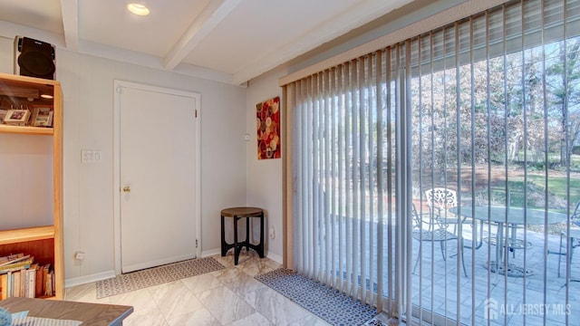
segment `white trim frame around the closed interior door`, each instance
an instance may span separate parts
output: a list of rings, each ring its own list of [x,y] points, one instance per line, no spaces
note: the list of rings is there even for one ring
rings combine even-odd
[[[141,91],[157,91],[194,98],[196,102],[195,139],[195,219],[196,257],[201,256],[201,94],[193,91],[179,91],[138,82],[113,80],[113,233],[115,250],[115,274],[121,274],[121,90],[123,88]]]

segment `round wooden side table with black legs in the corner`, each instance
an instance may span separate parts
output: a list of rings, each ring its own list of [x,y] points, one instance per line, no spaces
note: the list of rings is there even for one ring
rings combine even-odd
[[[225,232],[225,217],[232,217],[234,219],[234,243],[227,244],[226,242],[226,232]],[[238,242],[237,240],[237,221],[240,218],[247,218],[246,221],[246,240],[243,242]],[[252,245],[250,243],[250,217],[260,218],[260,243],[257,245]],[[234,264],[237,265],[239,259],[239,253],[242,248],[246,247],[246,250],[250,248],[260,256],[264,258],[264,211],[257,207],[229,207],[221,210],[221,255],[225,256],[229,249],[234,248]]]

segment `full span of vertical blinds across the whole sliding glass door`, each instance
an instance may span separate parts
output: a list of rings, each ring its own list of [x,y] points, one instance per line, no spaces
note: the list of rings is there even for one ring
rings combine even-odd
[[[295,270],[401,319],[572,323],[579,18],[507,2],[285,85]]]

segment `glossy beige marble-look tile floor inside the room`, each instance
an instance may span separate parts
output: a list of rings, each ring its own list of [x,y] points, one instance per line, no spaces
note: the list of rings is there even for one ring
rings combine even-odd
[[[173,283],[96,299],[94,283],[66,289],[66,300],[132,305],[124,321],[132,326],[183,325],[327,325],[283,295],[254,279],[280,264],[250,252],[240,256],[214,256],[226,269]]]

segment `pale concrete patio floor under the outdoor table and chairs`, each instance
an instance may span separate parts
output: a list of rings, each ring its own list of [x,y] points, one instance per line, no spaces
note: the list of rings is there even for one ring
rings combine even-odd
[[[483,229],[484,239],[496,235],[495,225],[484,224]],[[463,226],[465,245],[470,245],[471,231],[470,225]],[[526,264],[525,277],[489,271],[488,261],[496,259],[496,245],[483,241],[478,249],[464,248],[468,276],[459,267],[459,286],[457,242],[449,245],[447,260],[443,260],[439,243],[432,244],[431,252],[431,243],[423,242],[423,258],[412,277],[413,304],[457,320],[459,297],[460,322],[469,325],[566,325],[566,316],[568,325],[580,325],[580,283],[569,283],[566,292],[565,256],[562,277],[558,277],[558,254],[545,254],[546,247],[549,253],[558,252],[559,235],[549,234],[545,241],[543,233],[517,229],[518,239],[524,235],[531,245],[507,252],[507,257],[509,264]],[[419,247],[419,242],[413,241],[413,264]],[[580,278],[579,267],[580,259],[573,260],[572,278]]]

